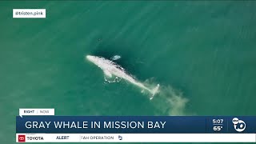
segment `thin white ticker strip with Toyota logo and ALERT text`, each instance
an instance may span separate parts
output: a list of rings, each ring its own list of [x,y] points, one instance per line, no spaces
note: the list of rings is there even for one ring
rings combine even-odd
[[[256,142],[256,134],[16,134],[16,142]]]

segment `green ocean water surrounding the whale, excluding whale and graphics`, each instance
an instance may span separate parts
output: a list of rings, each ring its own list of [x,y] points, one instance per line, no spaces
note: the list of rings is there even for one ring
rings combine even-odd
[[[256,2],[0,2],[1,143],[18,108],[57,115],[256,115]],[[46,18],[12,18],[44,8]],[[159,92],[106,83],[112,58]]]

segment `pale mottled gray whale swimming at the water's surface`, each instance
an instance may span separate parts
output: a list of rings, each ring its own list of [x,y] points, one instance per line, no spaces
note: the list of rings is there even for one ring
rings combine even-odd
[[[110,61],[109,59],[93,56],[93,55],[86,55],[86,59],[90,62],[93,62],[96,66],[101,68],[107,77],[111,78],[112,75],[114,75],[116,76],[116,78],[123,78],[126,81],[134,84],[135,86],[138,86],[143,90],[149,91],[150,94],[152,94],[150,99],[152,99],[154,97],[154,94],[158,92],[158,88],[160,86],[159,84],[154,89],[151,90],[150,88],[144,86],[142,82],[138,82],[135,78],[133,78],[130,74],[128,74],[126,70],[122,68],[122,66],[119,66],[118,64]]]

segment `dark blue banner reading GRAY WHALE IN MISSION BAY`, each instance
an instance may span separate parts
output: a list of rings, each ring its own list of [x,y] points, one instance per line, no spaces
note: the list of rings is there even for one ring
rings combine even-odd
[[[256,133],[256,116],[17,116],[16,133]]]

